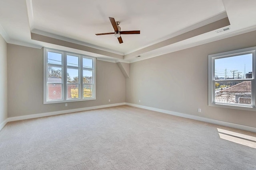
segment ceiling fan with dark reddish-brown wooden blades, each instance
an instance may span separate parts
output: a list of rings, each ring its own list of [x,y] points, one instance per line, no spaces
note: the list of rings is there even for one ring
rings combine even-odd
[[[115,21],[114,18],[108,17],[113,28],[114,28],[114,33],[99,33],[99,34],[95,34],[95,35],[107,35],[107,34],[114,34],[115,37],[117,37],[119,43],[123,43],[121,34],[140,34],[140,31],[121,31],[121,27],[118,26],[120,24],[119,21]]]

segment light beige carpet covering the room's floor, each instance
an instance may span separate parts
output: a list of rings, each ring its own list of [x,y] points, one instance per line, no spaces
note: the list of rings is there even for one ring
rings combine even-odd
[[[0,169],[256,169],[256,149],[212,125],[130,106],[9,122]]]

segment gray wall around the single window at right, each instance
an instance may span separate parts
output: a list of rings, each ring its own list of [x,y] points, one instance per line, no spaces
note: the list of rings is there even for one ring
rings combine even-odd
[[[255,37],[253,31],[131,63],[126,102],[256,127],[254,111],[208,106],[208,55],[254,47]]]

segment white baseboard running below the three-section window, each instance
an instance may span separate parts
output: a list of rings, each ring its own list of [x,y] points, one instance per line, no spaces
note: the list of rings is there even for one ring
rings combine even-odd
[[[113,107],[113,106],[121,106],[125,105],[125,103],[117,103],[117,104],[107,104],[107,105],[101,105],[101,106],[92,106],[92,107],[84,107],[84,108],[78,108],[78,109],[70,109],[70,110],[61,110],[61,111],[53,111],[48,113],[38,113],[33,115],[24,115],[24,116],[17,116],[17,117],[8,117],[7,122],[9,121],[18,121],[18,120],[24,120],[24,119],[32,119],[37,117],[45,117],[45,116],[52,116],[52,115],[60,115],[65,113],[73,113],[77,111],[85,111],[85,110],[92,110],[92,109],[100,109],[105,107]],[[7,123],[6,122],[6,123]],[[1,124],[2,125],[2,124]]]

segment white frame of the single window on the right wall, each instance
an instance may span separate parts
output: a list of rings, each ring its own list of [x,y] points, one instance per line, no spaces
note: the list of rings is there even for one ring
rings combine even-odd
[[[215,79],[214,79],[214,70],[215,59],[221,59],[225,57],[234,57],[237,55],[245,55],[245,54],[252,54],[252,78],[250,79],[224,79],[218,80],[219,81],[251,81],[252,83],[252,94],[251,94],[251,102],[252,105],[245,105],[245,104],[226,104],[226,103],[218,103],[215,102]],[[255,79],[255,68],[256,68],[256,47],[250,47],[246,49],[239,49],[234,51],[228,51],[224,53],[218,53],[213,55],[208,55],[208,106],[215,106],[215,107],[226,107],[232,109],[241,109],[241,110],[250,110],[256,111],[256,79]],[[217,81],[217,80],[216,80]]]

